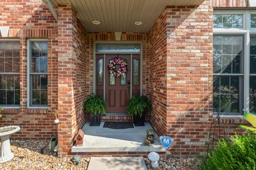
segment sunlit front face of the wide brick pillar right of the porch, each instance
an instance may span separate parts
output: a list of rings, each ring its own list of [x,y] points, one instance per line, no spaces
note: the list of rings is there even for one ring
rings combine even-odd
[[[167,135],[172,155],[204,154],[212,118],[213,8],[167,8]]]

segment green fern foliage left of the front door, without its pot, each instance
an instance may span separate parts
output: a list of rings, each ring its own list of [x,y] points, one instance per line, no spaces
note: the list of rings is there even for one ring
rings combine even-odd
[[[107,112],[106,102],[103,97],[98,95],[89,96],[84,103],[86,113],[105,114]]]

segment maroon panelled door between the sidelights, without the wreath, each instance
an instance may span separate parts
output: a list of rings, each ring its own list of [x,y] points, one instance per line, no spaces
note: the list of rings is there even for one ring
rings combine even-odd
[[[113,77],[110,75],[108,64],[113,58],[119,57],[126,60],[127,72],[125,77]],[[106,89],[105,99],[107,104],[108,113],[126,113],[126,104],[130,97],[130,86],[131,81],[131,55],[106,55],[105,63],[105,75],[106,75]],[[116,69],[119,69],[119,65],[116,65]]]

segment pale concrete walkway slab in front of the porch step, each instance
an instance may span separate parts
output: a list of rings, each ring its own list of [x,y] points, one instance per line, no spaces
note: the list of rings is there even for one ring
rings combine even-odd
[[[142,157],[92,157],[87,170],[147,170]]]

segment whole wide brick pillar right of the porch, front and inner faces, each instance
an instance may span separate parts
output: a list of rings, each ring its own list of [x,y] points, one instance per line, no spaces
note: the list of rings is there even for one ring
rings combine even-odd
[[[150,120],[174,139],[172,156],[205,148],[212,121],[212,12],[209,1],[168,6],[150,31]]]

